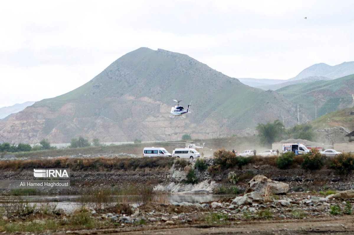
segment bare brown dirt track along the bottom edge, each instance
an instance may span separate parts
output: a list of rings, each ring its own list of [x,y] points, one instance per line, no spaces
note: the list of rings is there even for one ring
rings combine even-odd
[[[329,217],[319,219],[297,219],[284,221],[235,222],[229,225],[171,225],[144,226],[120,229],[97,229],[92,231],[75,231],[72,234],[354,234],[352,216]],[[67,234],[70,234],[67,232]]]

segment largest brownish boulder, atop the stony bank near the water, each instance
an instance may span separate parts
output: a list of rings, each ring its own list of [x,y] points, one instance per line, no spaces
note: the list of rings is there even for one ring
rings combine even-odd
[[[259,192],[261,195],[264,194],[286,194],[289,191],[289,185],[287,183],[274,181],[268,179],[264,175],[256,175],[250,182],[248,182],[249,187],[247,192]]]

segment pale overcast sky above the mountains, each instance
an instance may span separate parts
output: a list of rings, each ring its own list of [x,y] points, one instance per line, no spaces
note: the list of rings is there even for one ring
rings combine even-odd
[[[307,19],[304,19],[307,17]],[[139,47],[230,77],[354,60],[354,1],[4,1],[0,107],[55,97]]]

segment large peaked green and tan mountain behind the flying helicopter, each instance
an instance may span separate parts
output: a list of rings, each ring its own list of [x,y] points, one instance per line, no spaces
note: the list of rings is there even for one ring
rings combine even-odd
[[[173,99],[184,106],[193,101],[185,119],[169,117]],[[139,48],[79,88],[0,121],[0,137],[14,143],[68,143],[78,135],[102,141],[177,140],[185,133],[212,138],[253,134],[258,122],[283,116],[287,125],[295,122],[295,110],[277,92],[246,86],[187,55]]]

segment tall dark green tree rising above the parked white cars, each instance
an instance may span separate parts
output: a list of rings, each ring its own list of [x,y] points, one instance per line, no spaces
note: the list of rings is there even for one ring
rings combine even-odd
[[[268,122],[267,124],[258,123],[256,127],[261,143],[266,145],[272,145],[281,136],[283,129],[284,124],[279,120],[275,120],[273,123]]]

